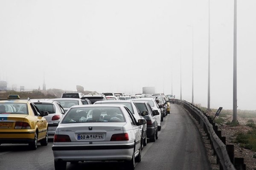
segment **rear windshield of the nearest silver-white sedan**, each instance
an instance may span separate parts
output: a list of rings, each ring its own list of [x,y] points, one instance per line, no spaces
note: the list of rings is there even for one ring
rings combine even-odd
[[[125,122],[125,116],[119,107],[71,108],[61,123],[81,122]]]

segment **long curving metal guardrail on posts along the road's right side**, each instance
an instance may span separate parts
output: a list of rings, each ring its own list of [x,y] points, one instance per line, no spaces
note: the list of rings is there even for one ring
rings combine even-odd
[[[213,147],[212,149],[214,150],[214,153],[217,156],[217,163],[219,163],[220,165],[220,170],[236,170],[233,161],[230,160],[230,155],[227,152],[226,144],[224,144],[223,141],[220,139],[221,131],[219,135],[218,126],[212,125],[213,122],[211,121],[209,116],[205,115],[202,111],[200,111],[198,108],[196,108],[189,102],[175,99],[175,103],[183,106],[183,108],[185,108],[187,111],[189,111],[189,113],[192,114],[192,116],[198,121],[201,127],[204,127],[204,131],[207,133],[208,139],[210,140],[210,143]],[[218,135],[215,133],[216,130]]]

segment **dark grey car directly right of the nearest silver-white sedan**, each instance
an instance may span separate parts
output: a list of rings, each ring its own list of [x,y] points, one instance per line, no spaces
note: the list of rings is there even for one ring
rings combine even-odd
[[[152,111],[151,106],[148,102],[139,100],[133,102],[137,106],[137,108],[139,108],[144,119],[146,119],[147,121],[147,138],[149,138],[151,142],[155,142],[156,139],[158,139],[158,128],[157,120],[154,116],[159,115],[160,113],[157,110]]]

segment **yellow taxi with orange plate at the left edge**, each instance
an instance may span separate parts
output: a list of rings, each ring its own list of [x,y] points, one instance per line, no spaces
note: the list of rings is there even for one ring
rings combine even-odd
[[[29,144],[36,150],[38,141],[48,144],[48,123],[44,116],[28,100],[0,101],[0,144]]]

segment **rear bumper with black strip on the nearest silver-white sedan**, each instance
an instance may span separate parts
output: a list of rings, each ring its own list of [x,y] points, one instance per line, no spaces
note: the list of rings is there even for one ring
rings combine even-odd
[[[54,160],[62,161],[122,161],[131,160],[134,143],[118,145],[53,145]]]

